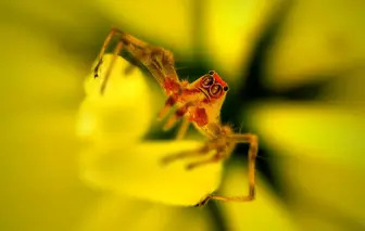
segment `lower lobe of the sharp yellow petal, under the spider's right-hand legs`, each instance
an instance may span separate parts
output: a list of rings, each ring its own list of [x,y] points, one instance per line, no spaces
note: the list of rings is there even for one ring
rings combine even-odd
[[[121,195],[173,205],[196,205],[221,181],[221,164],[187,170],[179,159],[162,165],[162,158],[201,145],[194,141],[155,141],[119,146],[90,146],[81,155],[83,179],[93,187]]]

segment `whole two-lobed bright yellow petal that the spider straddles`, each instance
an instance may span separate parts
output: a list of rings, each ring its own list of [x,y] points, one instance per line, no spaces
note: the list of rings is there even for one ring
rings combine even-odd
[[[124,195],[175,205],[198,204],[218,187],[221,164],[186,170],[189,162],[201,159],[192,158],[162,166],[163,157],[194,151],[202,142],[143,141],[155,117],[150,108],[153,94],[138,68],[125,75],[129,64],[122,57],[101,94],[110,59],[104,57],[101,77],[89,77],[85,84],[78,132],[92,142],[81,155],[83,179]]]

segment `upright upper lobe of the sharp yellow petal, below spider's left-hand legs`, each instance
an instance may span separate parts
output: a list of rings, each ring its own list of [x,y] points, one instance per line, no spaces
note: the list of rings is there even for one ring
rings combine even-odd
[[[154,116],[151,93],[141,70],[135,67],[125,75],[130,64],[117,57],[101,94],[101,84],[111,57],[110,54],[104,56],[100,77],[90,75],[85,81],[86,98],[80,106],[77,131],[79,136],[95,141],[131,142],[150,128]]]

